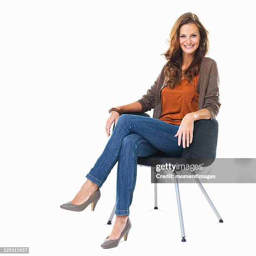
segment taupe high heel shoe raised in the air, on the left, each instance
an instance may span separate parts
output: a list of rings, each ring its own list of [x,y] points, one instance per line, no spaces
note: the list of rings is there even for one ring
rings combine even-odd
[[[74,205],[72,202],[66,202],[60,207],[65,210],[75,211],[75,212],[82,212],[88,205],[91,204],[92,211],[94,211],[97,202],[100,199],[100,188],[98,187],[95,192],[90,196],[90,198],[85,201],[82,205]]]

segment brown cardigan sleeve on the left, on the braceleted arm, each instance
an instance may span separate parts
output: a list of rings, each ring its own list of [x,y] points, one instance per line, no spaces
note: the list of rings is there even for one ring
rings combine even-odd
[[[141,103],[141,106],[142,106],[141,111],[142,112],[147,112],[147,111],[150,111],[152,108],[154,108],[157,85],[159,83],[159,79],[160,79],[162,72],[164,72],[165,67],[166,67],[166,64],[164,64],[164,67],[162,68],[160,74],[156,78],[156,81],[147,90],[146,94],[142,95],[141,99],[137,100],[137,102]]]

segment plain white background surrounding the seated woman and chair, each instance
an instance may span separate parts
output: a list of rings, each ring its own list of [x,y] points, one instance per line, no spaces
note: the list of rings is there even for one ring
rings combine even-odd
[[[112,229],[116,166],[95,212],[72,200],[110,137],[111,107],[141,98],[165,63],[175,20],[191,11],[209,31],[220,76],[217,157],[255,157],[255,27],[251,1],[1,1],[0,246],[31,255],[252,255],[255,184],[180,184],[186,243],[174,184],[138,166],[128,240],[104,250]],[[153,110],[148,112],[151,117]],[[112,129],[111,129],[112,131]],[[114,219],[115,220],[115,219]],[[49,253],[51,251],[51,253]],[[251,252],[250,252],[251,251]]]

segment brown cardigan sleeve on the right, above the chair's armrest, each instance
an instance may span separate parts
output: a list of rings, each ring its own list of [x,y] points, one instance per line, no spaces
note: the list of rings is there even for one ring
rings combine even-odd
[[[215,119],[220,110],[219,83],[217,62],[213,60],[204,102],[204,108],[210,111],[211,119]]]

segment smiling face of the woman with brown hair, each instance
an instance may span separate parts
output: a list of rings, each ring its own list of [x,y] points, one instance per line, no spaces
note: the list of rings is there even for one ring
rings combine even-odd
[[[182,54],[194,56],[196,49],[199,46],[200,33],[196,24],[184,24],[179,29],[179,45],[182,49]]]

